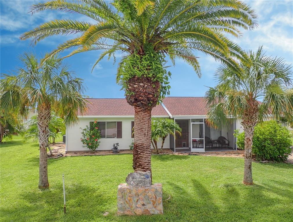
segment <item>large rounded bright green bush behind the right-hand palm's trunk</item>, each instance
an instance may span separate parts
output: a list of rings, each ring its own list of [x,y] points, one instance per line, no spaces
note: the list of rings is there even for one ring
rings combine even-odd
[[[235,131],[237,147],[244,147],[244,132]],[[291,153],[290,131],[276,121],[266,121],[255,126],[252,153],[257,160],[282,161]]]

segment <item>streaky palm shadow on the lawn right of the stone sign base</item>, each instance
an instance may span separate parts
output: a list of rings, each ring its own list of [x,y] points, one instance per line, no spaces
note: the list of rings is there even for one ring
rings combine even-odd
[[[171,215],[168,217],[170,221],[254,221],[266,216],[263,212],[267,209],[276,210],[270,215],[276,219],[276,215],[283,213],[282,208],[275,207],[280,199],[268,195],[276,189],[273,185],[268,188],[257,184],[227,183],[209,189],[196,179],[192,180],[190,189],[173,182],[168,182],[168,185],[175,192],[170,201],[164,203],[164,212]]]

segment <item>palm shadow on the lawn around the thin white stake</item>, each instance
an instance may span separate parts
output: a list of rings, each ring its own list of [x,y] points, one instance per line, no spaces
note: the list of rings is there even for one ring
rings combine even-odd
[[[109,204],[106,193],[98,187],[75,184],[66,187],[67,212],[63,211],[63,187],[57,185],[47,190],[25,192],[19,203],[1,207],[2,221],[93,221],[101,217]]]

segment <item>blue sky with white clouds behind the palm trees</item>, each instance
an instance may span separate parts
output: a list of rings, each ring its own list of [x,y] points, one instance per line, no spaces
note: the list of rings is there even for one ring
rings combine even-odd
[[[50,37],[36,46],[28,41],[20,41],[18,37],[41,23],[60,18],[76,20],[90,19],[78,14],[57,11],[43,11],[31,16],[29,7],[39,1],[6,1],[1,0],[1,73],[9,73],[19,66],[18,56],[23,52],[34,52],[39,56],[52,51],[59,43],[69,37]],[[287,63],[293,62],[293,1],[246,1],[258,13],[258,27],[253,31],[243,30],[243,37],[232,38],[245,50],[256,50],[259,45],[271,56],[281,56]],[[115,75],[117,62],[105,58],[91,73],[91,69],[100,52],[77,54],[64,61],[71,65],[71,70],[84,79],[87,86],[86,95],[93,98],[122,98],[123,91],[116,85]],[[117,54],[117,61],[121,55]],[[203,54],[200,57],[202,77],[198,78],[193,68],[178,60],[175,67],[168,68],[172,73],[170,96],[204,96],[207,87],[214,86],[214,72],[219,66],[213,58]]]

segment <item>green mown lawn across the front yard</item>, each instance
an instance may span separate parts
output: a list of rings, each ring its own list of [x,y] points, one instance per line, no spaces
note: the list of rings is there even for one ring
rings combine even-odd
[[[37,188],[38,144],[8,141],[1,144],[0,158],[1,222],[293,221],[291,164],[253,163],[255,185],[245,186],[241,158],[153,156],[153,182],[163,184],[164,215],[116,216],[117,186],[132,172],[130,154],[50,159],[45,191]]]

